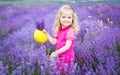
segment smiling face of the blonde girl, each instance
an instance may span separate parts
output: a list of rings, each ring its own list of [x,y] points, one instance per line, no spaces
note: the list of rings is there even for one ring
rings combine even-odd
[[[70,26],[72,24],[72,13],[68,10],[62,11],[62,14],[60,16],[60,23],[62,25],[62,28],[65,28],[67,26]]]

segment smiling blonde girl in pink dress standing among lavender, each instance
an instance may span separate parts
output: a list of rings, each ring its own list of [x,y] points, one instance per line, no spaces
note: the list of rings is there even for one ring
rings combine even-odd
[[[75,60],[74,41],[78,31],[77,16],[69,5],[63,5],[54,22],[55,37],[47,33],[51,44],[56,45],[56,50],[51,53],[50,59],[57,57],[59,60],[58,69],[63,69],[63,64],[70,67],[70,62]]]

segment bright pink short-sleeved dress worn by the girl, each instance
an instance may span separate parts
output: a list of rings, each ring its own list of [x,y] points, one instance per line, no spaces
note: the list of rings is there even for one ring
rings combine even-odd
[[[58,32],[58,35],[56,36],[57,44],[56,44],[56,50],[59,50],[66,44],[66,40],[72,40],[72,44],[64,53],[59,54],[58,56],[58,69],[63,69],[63,66],[67,64],[68,68],[70,67],[71,61],[74,61],[75,54],[74,54],[74,40],[75,40],[75,31],[70,26],[60,29]]]

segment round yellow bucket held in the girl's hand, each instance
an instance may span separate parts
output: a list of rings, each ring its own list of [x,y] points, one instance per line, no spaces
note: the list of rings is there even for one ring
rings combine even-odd
[[[40,44],[43,44],[48,40],[48,37],[45,32],[36,29],[34,31],[34,40]]]

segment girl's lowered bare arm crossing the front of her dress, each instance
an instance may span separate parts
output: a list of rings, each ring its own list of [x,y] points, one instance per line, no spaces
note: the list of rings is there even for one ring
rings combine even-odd
[[[63,46],[63,47],[60,48],[59,50],[54,51],[54,52],[50,55],[50,58],[56,57],[57,55],[59,55],[59,54],[61,54],[61,53],[63,53],[63,52],[66,52],[66,51],[70,48],[71,44],[72,44],[72,40],[67,40],[65,46]]]

